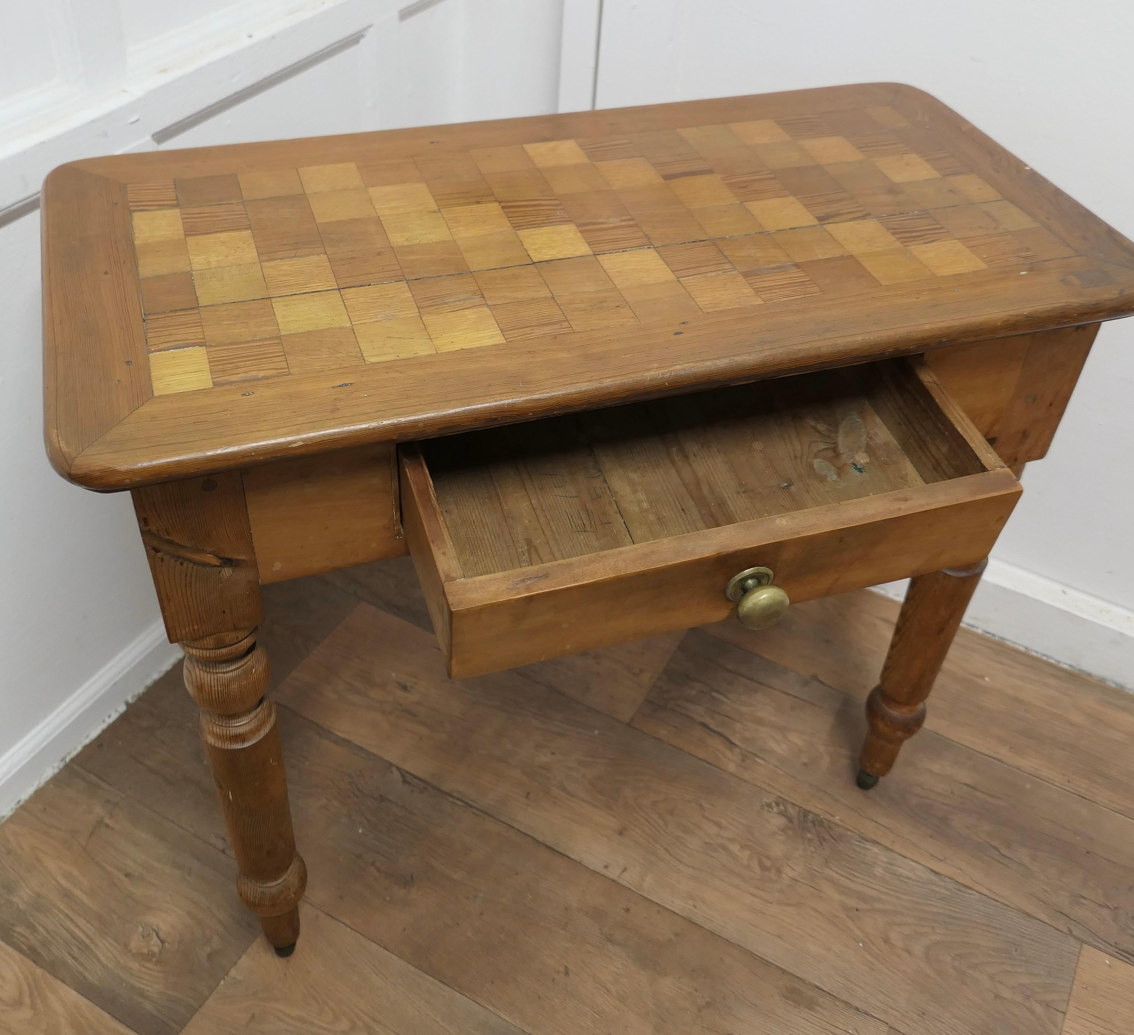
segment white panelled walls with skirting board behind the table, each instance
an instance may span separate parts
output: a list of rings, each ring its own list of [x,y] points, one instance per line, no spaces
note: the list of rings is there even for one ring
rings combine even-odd
[[[1103,12],[1101,9],[1106,8]],[[1119,229],[1134,9],[1056,0],[39,0],[0,33],[0,816],[169,667],[125,495],[42,448],[37,194],[76,158],[903,79]],[[1103,14],[1106,15],[1103,24]],[[1134,686],[1134,322],[1105,328],[971,620]]]

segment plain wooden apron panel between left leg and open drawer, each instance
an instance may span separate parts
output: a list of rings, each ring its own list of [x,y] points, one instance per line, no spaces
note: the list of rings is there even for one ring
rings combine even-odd
[[[388,443],[251,467],[242,478],[261,583],[406,552]]]

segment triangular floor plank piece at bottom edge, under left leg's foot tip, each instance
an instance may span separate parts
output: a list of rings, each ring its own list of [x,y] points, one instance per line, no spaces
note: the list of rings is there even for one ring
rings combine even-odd
[[[303,951],[281,961],[256,939],[185,1027],[185,1035],[523,1035],[310,906]]]

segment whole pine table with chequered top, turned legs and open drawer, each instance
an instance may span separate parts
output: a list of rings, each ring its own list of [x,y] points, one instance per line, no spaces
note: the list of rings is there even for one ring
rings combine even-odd
[[[1129,241],[894,84],[92,159],[43,240],[48,450],[133,494],[280,955],[262,584],[408,551],[460,678],[914,576],[869,789],[1134,309]]]

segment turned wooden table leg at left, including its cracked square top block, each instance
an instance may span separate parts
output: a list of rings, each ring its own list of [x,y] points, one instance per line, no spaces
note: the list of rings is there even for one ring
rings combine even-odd
[[[256,643],[260,578],[238,473],[134,490],[166,630],[185,650],[185,686],[239,876],[280,956],[299,936],[307,871],[295,850],[270,667]]]

